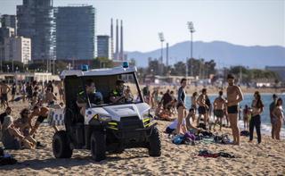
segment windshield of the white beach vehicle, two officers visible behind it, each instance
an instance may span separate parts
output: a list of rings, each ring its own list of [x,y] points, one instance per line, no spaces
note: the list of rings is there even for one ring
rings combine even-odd
[[[142,103],[134,73],[88,76],[84,81],[86,100],[92,107]]]

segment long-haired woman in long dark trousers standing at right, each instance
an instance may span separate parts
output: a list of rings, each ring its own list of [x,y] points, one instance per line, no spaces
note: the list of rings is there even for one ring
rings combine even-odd
[[[261,143],[261,117],[260,114],[264,111],[264,104],[262,103],[261,96],[258,91],[254,94],[255,99],[252,101],[252,116],[249,122],[249,142],[252,142],[253,139],[253,130],[256,127],[256,135],[258,144]]]

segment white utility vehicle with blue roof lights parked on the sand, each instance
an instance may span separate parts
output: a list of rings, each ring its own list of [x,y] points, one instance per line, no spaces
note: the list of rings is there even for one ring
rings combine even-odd
[[[73,149],[90,149],[95,161],[102,161],[106,153],[121,153],[125,148],[145,147],[151,156],[161,155],[157,123],[153,122],[150,106],[143,102],[136,78],[136,68],[124,63],[122,67],[90,71],[62,71],[64,82],[65,130],[53,136],[53,155],[69,158]],[[91,104],[86,94],[85,81],[93,80],[102,103]],[[118,103],[110,101],[116,81],[124,80],[121,95],[128,95]],[[78,92],[85,95],[85,115],[77,106]],[[131,98],[130,98],[131,97]]]

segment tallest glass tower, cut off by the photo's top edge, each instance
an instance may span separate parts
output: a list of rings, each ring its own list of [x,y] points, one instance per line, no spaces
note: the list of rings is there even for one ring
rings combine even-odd
[[[54,58],[53,0],[23,0],[17,5],[18,35],[31,39],[33,60]]]

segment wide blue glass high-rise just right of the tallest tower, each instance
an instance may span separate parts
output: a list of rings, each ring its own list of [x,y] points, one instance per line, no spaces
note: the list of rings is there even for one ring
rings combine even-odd
[[[56,59],[94,59],[95,8],[91,5],[57,7],[54,16]]]

